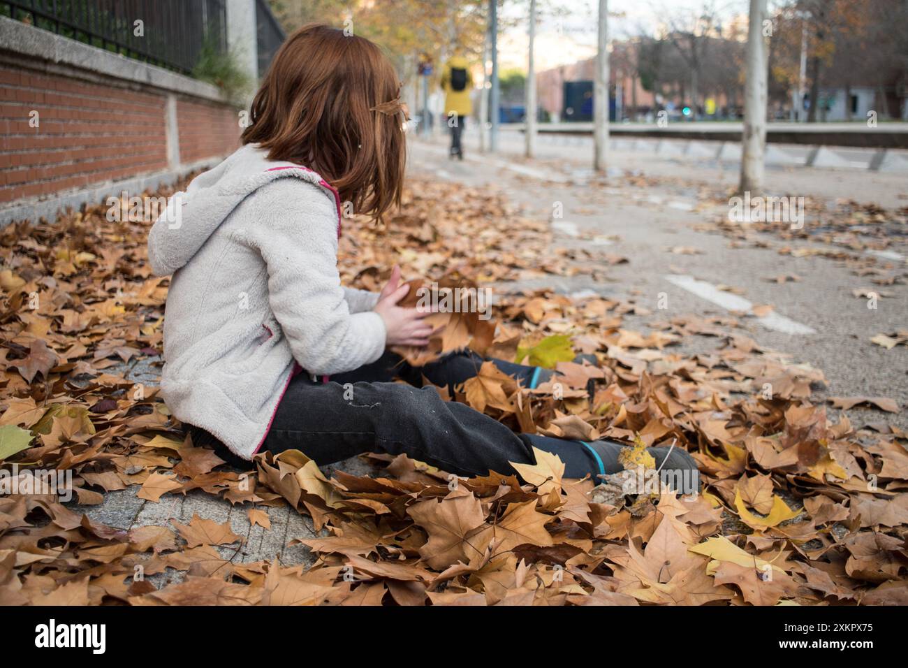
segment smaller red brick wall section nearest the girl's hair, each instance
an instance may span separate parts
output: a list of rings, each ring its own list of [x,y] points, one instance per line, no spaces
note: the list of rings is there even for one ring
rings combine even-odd
[[[240,146],[240,117],[233,109],[180,100],[176,115],[180,130],[180,161],[183,163],[232,153]]]

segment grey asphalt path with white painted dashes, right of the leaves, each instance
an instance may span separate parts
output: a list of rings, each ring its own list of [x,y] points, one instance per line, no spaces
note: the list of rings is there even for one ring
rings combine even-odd
[[[591,181],[591,144],[540,142],[540,157],[528,161],[519,155],[521,135],[503,133],[495,156],[478,155],[473,136],[467,159],[458,162],[449,160],[444,142],[441,137],[434,143],[411,142],[410,172],[499,188],[531,217],[552,219],[555,203],[561,202],[564,217],[552,221],[555,245],[608,244],[607,252],[630,261],[608,267],[603,283],[554,277],[531,286],[550,284],[566,293],[592,289],[632,299],[653,311],[651,316],[626,319],[627,325],[642,331],[646,323],[665,317],[727,316],[748,310],[750,304],[770,304],[769,315],[745,318],[749,334],[758,344],[791,354],[795,362],[822,369],[828,387],[820,397],[887,396],[908,405],[908,348],[886,350],[870,341],[876,334],[908,329],[904,224],[895,225],[901,234],[886,249],[887,257],[814,238],[785,240],[772,233],[755,233],[745,242],[733,243],[713,229],[713,223],[728,214],[727,198],[737,181],[733,167],[616,153],[609,178]],[[644,178],[624,178],[621,174],[627,171]],[[824,204],[854,199],[887,209],[908,206],[904,175],[770,168],[766,185],[769,194],[804,196]],[[815,217],[808,213],[808,222],[811,215]],[[795,254],[780,254],[786,246]],[[852,259],[810,254],[818,250],[847,250]],[[854,274],[861,266],[882,270],[880,276],[899,277],[898,282],[875,285],[870,280],[874,274]],[[780,274],[795,274],[800,280],[782,284],[765,280]],[[723,289],[727,286],[735,292]],[[877,307],[870,309],[867,299],[853,294],[862,288],[891,296],[879,298]],[[660,310],[661,294],[667,308]],[[715,346],[715,339],[692,337],[682,350],[699,352]],[[908,426],[904,411],[895,415],[858,407],[848,415],[855,426],[881,420]]]

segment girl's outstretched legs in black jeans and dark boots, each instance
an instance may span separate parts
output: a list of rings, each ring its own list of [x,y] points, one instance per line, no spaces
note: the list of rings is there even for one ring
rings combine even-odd
[[[625,444],[598,441],[587,444],[538,434],[514,434],[506,425],[466,404],[444,401],[432,387],[420,388],[422,378],[432,384],[454,385],[477,374],[483,360],[472,353],[451,354],[415,368],[398,355],[386,353],[377,362],[356,371],[331,376],[328,383],[313,381],[305,372],[287,388],[263,449],[273,453],[301,450],[316,464],[332,464],[357,454],[407,454],[452,474],[516,473],[510,462],[536,464],[533,447],[557,454],[565,477],[583,478],[622,470],[617,455]],[[493,360],[498,369],[535,387],[553,372],[538,367]],[[392,383],[392,378],[407,383]],[[650,448],[656,463],[668,448]],[[671,454],[665,468],[696,464],[685,452]]]

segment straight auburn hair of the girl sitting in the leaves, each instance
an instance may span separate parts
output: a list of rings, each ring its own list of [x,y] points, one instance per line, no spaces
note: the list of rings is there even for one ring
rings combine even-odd
[[[357,214],[400,206],[406,164],[400,82],[368,39],[304,25],[281,45],[252,101],[242,143],[311,167]],[[390,109],[377,110],[376,107]]]

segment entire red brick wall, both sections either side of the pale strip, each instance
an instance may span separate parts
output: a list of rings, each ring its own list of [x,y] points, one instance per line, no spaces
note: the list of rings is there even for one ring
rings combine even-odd
[[[0,63],[0,210],[173,170],[168,95]],[[38,127],[29,125],[33,111]],[[230,154],[238,120],[232,107],[176,94],[181,168]]]

